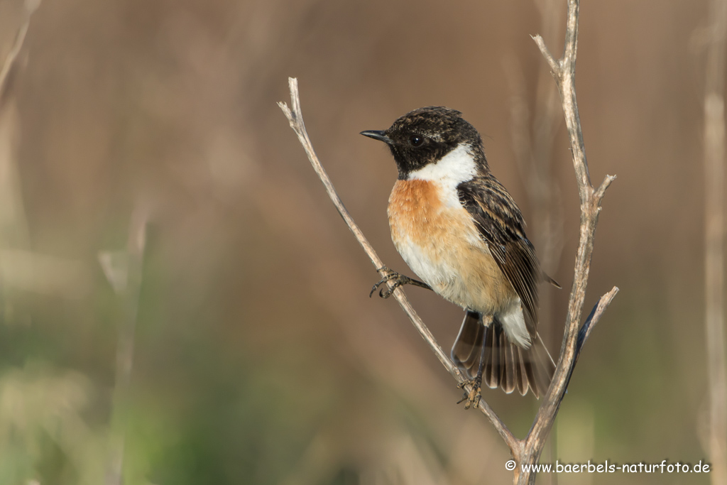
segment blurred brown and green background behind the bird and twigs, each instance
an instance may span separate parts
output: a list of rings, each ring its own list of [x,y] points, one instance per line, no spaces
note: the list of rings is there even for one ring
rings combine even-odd
[[[558,355],[578,197],[555,85],[565,2],[0,1],[0,484],[499,484],[510,454],[340,220],[390,268],[396,170],[358,135],[447,105],[482,133],[547,271]],[[705,0],[585,1],[577,93],[617,175],[585,314],[619,286],[542,462],[705,460]],[[15,42],[15,44],[14,44]],[[449,350],[462,310],[406,293]],[[517,436],[538,401],[486,390]],[[121,479],[123,477],[123,479]],[[709,476],[541,476],[554,484]]]

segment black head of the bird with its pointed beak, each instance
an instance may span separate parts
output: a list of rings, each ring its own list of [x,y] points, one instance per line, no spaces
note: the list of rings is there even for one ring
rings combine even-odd
[[[385,131],[371,130],[361,132],[361,135],[389,145],[400,179],[435,163],[462,144],[470,145],[470,153],[486,169],[480,134],[461,115],[461,112],[443,106],[427,106],[409,111]]]

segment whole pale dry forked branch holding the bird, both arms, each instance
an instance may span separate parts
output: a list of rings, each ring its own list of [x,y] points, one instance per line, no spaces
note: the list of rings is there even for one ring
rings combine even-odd
[[[513,433],[507,429],[507,426],[505,426],[502,420],[497,417],[497,414],[492,411],[484,399],[481,399],[479,402],[481,412],[488,417],[495,430],[497,430],[499,435],[510,448],[510,452],[512,452],[515,461],[518,463],[518,466],[515,468],[515,483],[517,484],[534,483],[535,474],[522,472],[521,465],[533,465],[537,463],[539,456],[542,453],[543,446],[545,446],[547,435],[553,427],[555,416],[558,413],[561,401],[563,400],[563,396],[568,388],[571,374],[573,373],[574,366],[579,353],[582,350],[583,344],[593,331],[593,327],[598,323],[603,312],[611,303],[611,300],[613,300],[616,293],[619,291],[619,289],[614,286],[610,292],[604,294],[603,297],[598,300],[598,303],[593,308],[593,311],[590,313],[590,316],[588,316],[583,326],[579,325],[583,304],[585,302],[585,291],[588,282],[588,272],[590,270],[591,254],[593,254],[595,228],[598,223],[598,214],[601,212],[601,201],[606,193],[606,189],[609,185],[611,185],[616,177],[607,175],[606,179],[603,180],[603,183],[601,183],[598,189],[594,189],[593,185],[590,183],[590,175],[588,173],[588,166],[585,157],[585,147],[575,94],[575,61],[578,27],[577,0],[568,1],[568,17],[566,25],[566,47],[564,49],[563,57],[560,60],[555,60],[553,55],[551,55],[548,51],[547,47],[545,47],[545,42],[540,36],[534,37],[534,40],[550,65],[553,77],[558,84],[558,90],[561,94],[563,113],[566,118],[566,127],[568,128],[571,140],[571,153],[573,154],[574,170],[576,172],[576,180],[581,201],[579,244],[574,268],[574,281],[573,286],[571,287],[571,296],[569,299],[566,330],[563,334],[563,344],[561,345],[561,356],[558,359],[558,365],[555,369],[553,382],[551,382],[550,388],[543,398],[542,404],[538,409],[533,425],[526,438],[522,440],[515,438]],[[326,174],[326,171],[313,150],[313,145],[310,143],[310,138],[308,137],[308,133],[305,131],[305,124],[302,119],[297,80],[289,78],[289,87],[292,108],[289,108],[285,103],[278,103],[278,105],[288,118],[292,129],[298,135],[298,139],[305,149],[305,152],[308,154],[308,159],[313,165],[313,169],[315,169],[318,177],[321,179],[321,182],[324,183],[326,191],[341,217],[343,217],[348,228],[356,237],[358,243],[361,244],[361,247],[364,248],[364,251],[368,254],[369,259],[377,268],[381,276],[385,276],[383,262],[379,259],[376,252],[374,252],[373,247],[369,244],[369,241],[366,240],[364,234],[361,232],[361,229],[358,228],[358,225],[356,225],[353,218],[345,209],[340,197],[337,195],[333,184],[331,183],[330,178]],[[409,300],[406,299],[403,290],[401,288],[397,288],[394,290],[393,295],[399,305],[401,305],[401,308],[404,310],[406,315],[409,316],[409,319],[417,328],[419,334],[421,334],[427,344],[430,345],[430,348],[433,350],[441,364],[449,371],[450,374],[452,374],[457,382],[466,382],[465,375],[462,374],[457,366],[451,362],[449,356],[444,353],[429,329],[427,329],[427,326],[425,326],[421,318],[419,318],[417,313],[414,311],[414,308],[411,307],[411,304],[409,303]],[[467,392],[471,390],[469,385],[465,386],[465,389]]]

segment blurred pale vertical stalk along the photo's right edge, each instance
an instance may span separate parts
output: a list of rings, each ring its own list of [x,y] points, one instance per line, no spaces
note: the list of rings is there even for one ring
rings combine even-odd
[[[704,329],[707,339],[712,484],[727,483],[727,376],[724,343],[725,56],[727,0],[710,2],[704,89]]]

